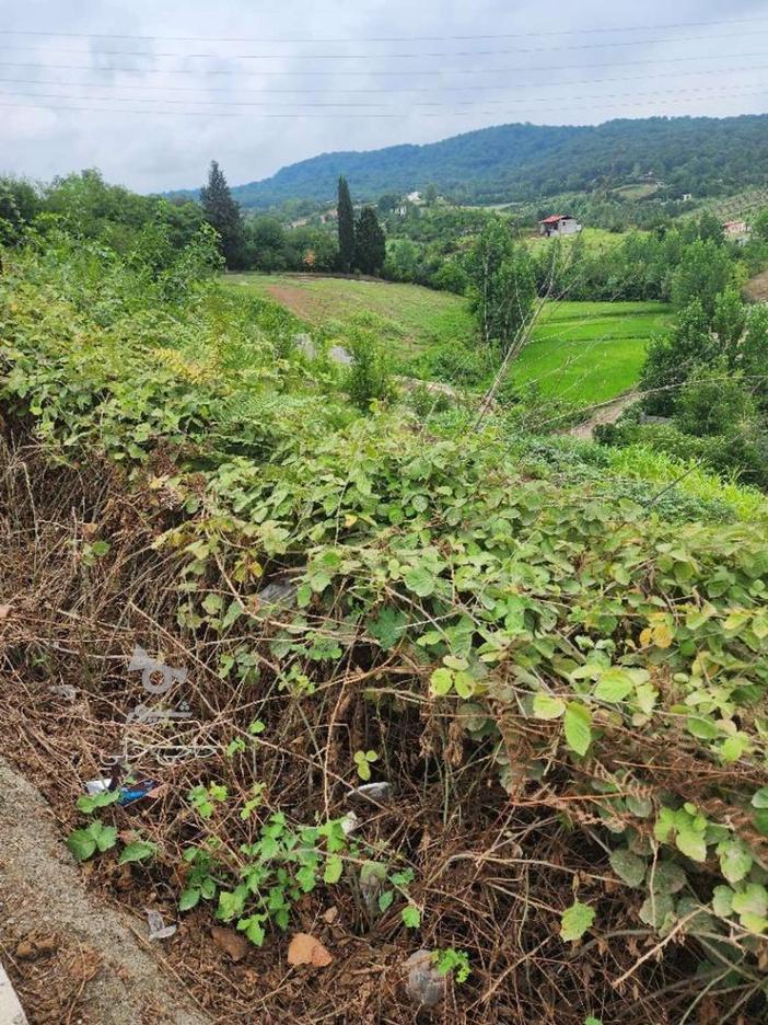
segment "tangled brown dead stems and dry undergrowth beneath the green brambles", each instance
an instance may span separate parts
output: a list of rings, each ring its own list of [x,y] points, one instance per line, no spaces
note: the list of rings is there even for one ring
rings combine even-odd
[[[100,774],[105,757],[119,749],[126,713],[141,700],[136,675],[127,672],[133,646],[162,652],[189,671],[183,696],[193,721],[175,736],[131,728],[136,750],[143,745],[131,768],[160,778],[163,792],[140,810],[112,813],[121,829],[140,826],[161,853],[127,874],[103,856],[89,868],[95,886],[130,907],[151,902],[173,919],[181,851],[199,836],[185,801],[191,785],[214,780],[245,797],[258,779],[269,810],[279,807],[311,822],[349,807],[351,752],[374,748],[385,756],[382,771],[395,796],[361,809],[360,834],[414,867],[412,896],[429,909],[418,934],[406,933],[392,909],[371,920],[350,866],[349,885],[333,892],[318,888],[294,909],[291,931],[313,934],[334,956],[321,971],[291,968],[288,938],[279,933],[233,965],[210,940],[208,908],[196,909],[163,951],[214,1021],[583,1025],[594,1015],[606,1025],[679,1022],[700,992],[696,941],[676,936],[659,946],[639,922],[635,895],[607,866],[596,798],[583,796],[565,764],[558,769],[555,745],[547,785],[524,783],[510,796],[488,772],[489,746],[465,740],[456,716],[427,699],[416,667],[396,654],[374,666],[364,644],[354,664],[345,661],[319,681],[310,703],[277,689],[266,646],[257,688],[225,682],[217,671],[221,642],[176,625],[177,566],[152,548],[179,517],[172,494],[129,491],[95,461],[56,467],[34,447],[7,438],[0,451],[0,560],[1,594],[11,608],[0,621],[7,681],[1,749],[34,778],[66,831],[79,818],[74,801],[83,781]],[[73,541],[96,534],[112,549],[86,566]],[[249,643],[264,644],[278,627],[279,615],[265,620],[261,636]],[[363,693],[374,677],[377,705]],[[51,686],[61,684],[75,688],[73,702],[51,694]],[[267,724],[258,758],[224,757],[223,746],[256,716]],[[499,719],[510,763],[522,767],[526,730],[534,727],[508,712]],[[540,737],[548,727],[535,728]],[[640,752],[635,739],[617,732],[616,763],[586,764],[584,773],[615,770],[622,758],[641,760],[659,785],[674,781],[702,808],[707,786],[726,793],[733,783],[726,770],[718,770],[717,779],[702,773],[683,739],[676,752]],[[159,751],[179,740],[217,750],[159,764]],[[253,839],[254,829],[235,819],[213,824],[233,851]],[[558,923],[574,894],[598,907],[601,928],[570,947],[559,938]],[[336,918],[329,924],[324,915],[331,906]],[[468,952],[473,975],[463,987],[449,984],[433,1014],[419,1016],[405,994],[402,966],[418,947],[449,946]],[[745,988],[736,986],[738,997]],[[730,1005],[725,997],[703,1001],[709,1016],[690,1021],[726,1021]]]

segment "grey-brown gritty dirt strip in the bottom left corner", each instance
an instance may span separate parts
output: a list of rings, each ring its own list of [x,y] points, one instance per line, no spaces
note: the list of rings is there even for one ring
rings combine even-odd
[[[0,760],[0,956],[30,1025],[209,1025],[131,926],[147,929],[85,888],[46,802]]]

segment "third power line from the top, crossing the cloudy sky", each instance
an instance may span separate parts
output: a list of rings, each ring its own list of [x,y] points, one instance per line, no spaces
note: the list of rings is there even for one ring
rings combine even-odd
[[[590,64],[590,68],[626,68],[626,67],[645,67],[648,65],[662,65],[662,64],[689,64],[693,60],[722,60],[723,58],[735,57],[738,59],[745,59],[748,57],[763,57],[765,58],[765,50],[757,50],[747,54],[698,54],[690,57],[659,57],[652,58],[649,60],[610,60],[603,64]],[[32,61],[12,61],[12,60],[0,60],[0,68],[36,68],[40,70],[57,70],[57,71],[89,71],[91,73],[98,74],[206,74],[206,76],[240,76],[241,78],[335,78],[335,77],[379,77],[379,78],[403,78],[404,76],[410,78],[444,78],[452,74],[509,74],[510,71],[520,71],[521,73],[530,74],[532,71],[542,71],[551,73],[552,71],[583,71],[584,65],[548,65],[539,66],[534,68],[454,68],[451,70],[428,70],[428,71],[225,71],[220,68],[203,68],[196,71],[190,71],[188,69],[152,69],[152,68],[114,68],[114,67],[94,67],[93,65],[51,65],[51,64],[39,64]],[[717,71],[717,69],[713,69]],[[748,69],[747,69],[748,70]],[[702,72],[706,73],[706,72]],[[357,90],[356,90],[357,91]]]

